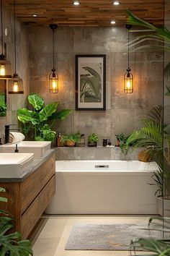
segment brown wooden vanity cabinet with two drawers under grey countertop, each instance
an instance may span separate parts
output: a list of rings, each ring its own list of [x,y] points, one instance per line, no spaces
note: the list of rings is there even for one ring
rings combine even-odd
[[[55,193],[55,155],[50,154],[23,182],[0,182],[6,189],[1,196],[8,202],[0,202],[0,209],[14,216],[15,230],[26,239]]]

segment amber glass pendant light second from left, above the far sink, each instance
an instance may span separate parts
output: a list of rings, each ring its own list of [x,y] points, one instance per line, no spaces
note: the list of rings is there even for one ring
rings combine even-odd
[[[14,0],[14,74],[12,76],[12,81],[9,83],[9,94],[22,94],[23,81],[22,78],[16,72],[17,66],[17,50],[16,50],[16,15],[15,15],[15,0]]]

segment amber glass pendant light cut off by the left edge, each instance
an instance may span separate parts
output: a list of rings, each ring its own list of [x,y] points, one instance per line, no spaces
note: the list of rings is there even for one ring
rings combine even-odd
[[[1,54],[0,54],[0,78],[12,78],[9,74],[11,69],[11,64],[6,59],[6,54],[4,54],[4,32],[3,32],[3,11],[2,11],[2,0],[1,0]]]

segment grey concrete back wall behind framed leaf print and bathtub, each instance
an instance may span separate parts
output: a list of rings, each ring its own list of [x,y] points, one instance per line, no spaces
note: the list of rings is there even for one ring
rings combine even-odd
[[[60,108],[71,108],[68,118],[57,124],[62,134],[80,130],[86,137],[95,132],[115,143],[115,134],[128,134],[140,126],[138,119],[149,108],[162,103],[162,54],[130,53],[134,93],[123,93],[127,69],[128,35],[124,27],[58,27],[55,33],[55,67],[58,67],[59,93],[48,92],[52,68],[52,33],[48,27],[30,28],[30,91],[39,93],[45,103],[60,101]],[[131,38],[134,37],[134,33]],[[75,54],[107,55],[107,110],[75,111]]]

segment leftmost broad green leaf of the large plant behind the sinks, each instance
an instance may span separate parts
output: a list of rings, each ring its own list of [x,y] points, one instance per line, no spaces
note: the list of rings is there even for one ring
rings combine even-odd
[[[23,124],[31,122],[33,125],[35,125],[39,122],[38,114],[35,111],[28,110],[27,108],[18,109],[17,118]]]

